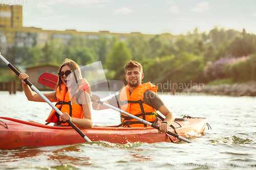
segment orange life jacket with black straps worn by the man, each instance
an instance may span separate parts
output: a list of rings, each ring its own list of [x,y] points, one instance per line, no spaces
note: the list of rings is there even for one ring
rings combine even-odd
[[[143,95],[146,90],[151,90],[157,93],[157,86],[151,84],[151,82],[143,83],[137,86],[130,95],[130,86],[126,85],[120,93],[119,100],[121,101],[121,110],[131,113],[153,124],[156,120],[156,110],[143,102]],[[148,125],[121,114],[121,125],[119,126],[146,127]]]

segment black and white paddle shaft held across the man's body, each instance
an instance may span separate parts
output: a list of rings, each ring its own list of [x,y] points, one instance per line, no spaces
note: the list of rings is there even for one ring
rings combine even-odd
[[[142,119],[142,118],[139,118],[139,117],[137,117],[137,116],[135,116],[135,115],[132,115],[132,114],[130,114],[130,113],[127,113],[127,112],[125,112],[125,111],[123,111],[123,110],[121,110],[121,109],[119,109],[119,108],[116,108],[116,107],[114,107],[114,106],[112,106],[112,105],[106,104],[106,103],[104,103],[104,102],[102,102],[102,101],[98,101],[98,103],[101,104],[101,105],[104,105],[104,106],[106,106],[106,107],[109,107],[109,108],[111,108],[111,109],[113,109],[113,110],[116,110],[116,111],[118,111],[118,112],[121,112],[121,113],[125,114],[126,116],[132,117],[132,118],[138,120],[139,122],[141,122],[141,123],[143,123],[143,124],[149,125],[149,126],[155,128],[155,129],[158,129],[158,130],[159,130],[159,126],[154,125],[154,124],[152,124],[152,123],[150,123],[150,122],[147,122],[146,120],[144,120],[144,119]],[[173,133],[173,132],[168,131],[167,134],[172,135],[172,136],[174,136],[174,137],[176,137],[176,138],[178,138],[178,139],[180,139],[180,140],[186,141],[186,142],[188,142],[188,143],[193,143],[193,141],[188,140],[188,139],[186,139],[186,138],[184,138],[184,137],[181,137],[181,136],[179,136],[179,135],[177,135],[177,134],[175,134],[175,133]]]

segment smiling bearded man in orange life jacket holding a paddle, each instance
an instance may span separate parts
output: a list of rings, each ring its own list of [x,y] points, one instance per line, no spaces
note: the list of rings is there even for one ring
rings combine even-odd
[[[165,119],[159,125],[159,133],[166,133],[168,131],[168,126],[173,123],[175,117],[156,94],[157,86],[151,84],[150,82],[141,84],[144,74],[142,72],[142,66],[140,63],[130,61],[124,66],[124,69],[125,79],[128,85],[126,85],[117,96],[114,96],[112,99],[104,102],[113,106],[118,104],[118,107],[121,110],[143,118],[147,122],[155,124],[158,120],[158,118],[155,116],[156,111],[159,110],[163,115],[165,115]],[[100,100],[99,96],[93,94],[91,99],[93,101],[93,109],[108,109],[108,107],[99,105],[97,103]],[[146,127],[147,125],[138,122],[136,119],[121,114],[120,126]]]

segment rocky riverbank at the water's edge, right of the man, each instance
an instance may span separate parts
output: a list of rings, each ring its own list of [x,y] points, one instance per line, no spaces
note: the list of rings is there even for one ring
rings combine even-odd
[[[193,86],[182,90],[182,92],[208,93],[214,95],[231,95],[231,96],[256,96],[256,82],[244,84],[220,84],[220,85],[201,85]]]

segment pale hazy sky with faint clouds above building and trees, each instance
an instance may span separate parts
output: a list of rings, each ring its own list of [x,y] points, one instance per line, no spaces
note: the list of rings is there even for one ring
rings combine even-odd
[[[198,27],[256,34],[255,0],[25,0],[23,26],[43,30],[186,34]]]

